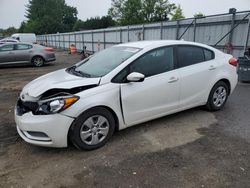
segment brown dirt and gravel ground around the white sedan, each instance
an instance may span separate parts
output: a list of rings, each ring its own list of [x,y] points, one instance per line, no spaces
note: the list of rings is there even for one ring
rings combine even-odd
[[[32,79],[80,60],[57,52],[42,68],[0,67],[0,187],[249,187],[250,84],[225,108],[195,108],[117,132],[95,151],[32,146],[13,109]]]

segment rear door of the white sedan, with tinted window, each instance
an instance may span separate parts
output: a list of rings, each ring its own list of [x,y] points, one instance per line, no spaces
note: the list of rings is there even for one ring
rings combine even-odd
[[[180,72],[180,106],[192,107],[206,102],[210,83],[215,77],[217,62],[214,52],[206,48],[177,46]]]

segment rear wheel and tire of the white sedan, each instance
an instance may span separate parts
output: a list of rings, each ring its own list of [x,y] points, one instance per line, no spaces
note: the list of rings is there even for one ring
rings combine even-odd
[[[223,81],[217,82],[209,94],[206,109],[209,111],[221,110],[227,102],[228,95],[228,85]]]

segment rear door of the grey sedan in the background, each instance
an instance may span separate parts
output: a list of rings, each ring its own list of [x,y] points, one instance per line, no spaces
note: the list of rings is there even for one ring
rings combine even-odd
[[[33,46],[30,44],[15,44],[15,61],[30,62]]]

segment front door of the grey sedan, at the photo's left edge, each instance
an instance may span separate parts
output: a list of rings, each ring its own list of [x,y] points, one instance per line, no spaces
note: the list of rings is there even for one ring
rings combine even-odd
[[[15,61],[14,44],[5,44],[0,47],[0,63],[10,63]]]

